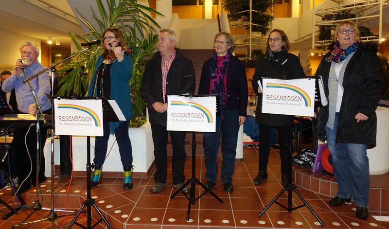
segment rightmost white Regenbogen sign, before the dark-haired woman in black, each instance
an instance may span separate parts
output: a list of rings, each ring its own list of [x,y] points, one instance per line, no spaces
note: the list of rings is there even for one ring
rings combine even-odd
[[[312,117],[315,103],[315,79],[264,78],[262,112]]]

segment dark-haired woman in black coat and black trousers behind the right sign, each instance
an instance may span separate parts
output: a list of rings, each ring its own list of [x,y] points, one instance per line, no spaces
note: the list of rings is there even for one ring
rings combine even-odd
[[[278,128],[280,143],[281,173],[283,185],[288,184],[288,152],[289,148],[289,115],[262,113],[262,91],[258,87],[258,80],[262,77],[287,78],[304,76],[300,59],[296,55],[288,53],[289,40],[283,30],[274,29],[267,39],[267,51],[261,56],[252,78],[252,87],[258,95],[255,121],[259,125],[259,163],[258,175],[254,178],[254,184],[261,184],[267,180],[267,162],[270,152],[271,129]],[[262,83],[261,83],[262,84]]]

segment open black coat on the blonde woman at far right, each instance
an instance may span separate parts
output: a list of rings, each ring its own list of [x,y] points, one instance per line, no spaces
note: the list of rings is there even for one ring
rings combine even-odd
[[[334,45],[334,44],[333,44]],[[332,49],[333,45],[330,47]],[[336,142],[376,145],[377,117],[375,109],[382,88],[383,69],[376,55],[376,43],[360,43],[346,66],[343,76],[343,97],[336,128]],[[325,61],[327,53],[320,62],[316,75],[323,77],[325,94],[328,98],[328,75],[331,62]],[[328,105],[318,112],[317,137],[326,140],[325,126],[328,120]],[[355,115],[360,112],[369,117],[356,123]]]

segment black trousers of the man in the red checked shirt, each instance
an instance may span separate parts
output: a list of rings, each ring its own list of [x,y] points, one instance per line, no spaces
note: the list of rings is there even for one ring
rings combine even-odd
[[[167,172],[167,130],[166,126],[159,124],[151,124],[151,133],[154,142],[154,157],[156,173],[154,181],[166,183]],[[184,166],[185,166],[185,131],[169,131],[172,139],[173,158],[172,158],[172,178],[173,184],[184,182]]]

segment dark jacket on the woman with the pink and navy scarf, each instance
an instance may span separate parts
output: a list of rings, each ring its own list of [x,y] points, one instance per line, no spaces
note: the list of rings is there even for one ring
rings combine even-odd
[[[201,70],[199,95],[210,94],[212,58],[206,60]],[[227,109],[239,109],[239,116],[247,116],[247,76],[245,64],[230,54],[230,63],[227,71]]]

